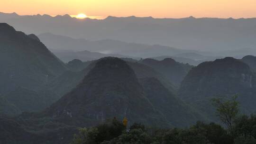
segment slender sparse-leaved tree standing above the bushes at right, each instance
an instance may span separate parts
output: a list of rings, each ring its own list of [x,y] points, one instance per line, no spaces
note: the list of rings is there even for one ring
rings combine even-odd
[[[238,96],[234,95],[231,99],[212,99],[213,105],[217,108],[217,116],[223,122],[229,132],[232,132],[234,119],[238,116]]]

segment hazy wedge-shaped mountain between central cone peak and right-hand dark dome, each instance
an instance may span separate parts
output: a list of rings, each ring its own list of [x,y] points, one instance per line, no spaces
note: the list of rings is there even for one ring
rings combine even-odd
[[[157,72],[160,72],[168,81],[174,83],[175,86],[179,86],[186,74],[193,67],[189,64],[178,63],[172,58],[166,58],[162,61],[154,59],[144,59],[140,61],[147,66],[154,68]]]

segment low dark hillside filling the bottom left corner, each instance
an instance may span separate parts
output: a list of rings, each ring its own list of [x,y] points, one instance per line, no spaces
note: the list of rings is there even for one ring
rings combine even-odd
[[[0,144],[69,144],[77,127],[0,115]]]

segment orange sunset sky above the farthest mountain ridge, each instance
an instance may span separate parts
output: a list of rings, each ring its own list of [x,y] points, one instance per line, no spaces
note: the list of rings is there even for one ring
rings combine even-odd
[[[0,0],[0,12],[19,15],[184,18],[256,17],[256,0]]]

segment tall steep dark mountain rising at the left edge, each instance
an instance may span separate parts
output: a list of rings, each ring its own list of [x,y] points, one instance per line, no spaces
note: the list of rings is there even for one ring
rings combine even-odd
[[[0,66],[0,94],[17,104],[19,112],[42,110],[53,103],[55,94],[41,90],[66,71],[64,63],[35,35],[27,36],[6,23],[0,23]]]

